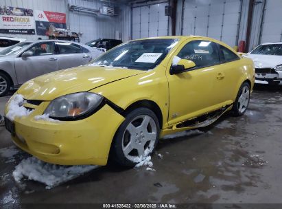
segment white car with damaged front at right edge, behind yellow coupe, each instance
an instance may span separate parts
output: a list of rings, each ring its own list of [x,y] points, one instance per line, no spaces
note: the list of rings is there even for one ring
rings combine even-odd
[[[263,43],[244,56],[255,63],[255,83],[282,85],[282,42]]]

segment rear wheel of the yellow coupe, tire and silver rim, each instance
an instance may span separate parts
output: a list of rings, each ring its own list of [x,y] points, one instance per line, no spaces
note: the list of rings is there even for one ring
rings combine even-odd
[[[233,104],[233,115],[241,116],[245,113],[250,102],[250,85],[243,83],[238,91],[237,98]]]

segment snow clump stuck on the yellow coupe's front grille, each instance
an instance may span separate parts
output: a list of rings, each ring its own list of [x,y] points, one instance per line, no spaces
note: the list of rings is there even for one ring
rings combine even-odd
[[[6,115],[7,118],[14,120],[15,117],[21,118],[32,113],[32,111],[27,110],[25,107],[23,107],[23,100],[24,99],[21,94],[16,94],[11,98],[8,106],[8,113]]]

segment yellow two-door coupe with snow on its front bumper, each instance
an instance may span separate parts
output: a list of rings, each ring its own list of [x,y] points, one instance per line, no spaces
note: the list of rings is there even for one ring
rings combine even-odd
[[[6,105],[5,126],[45,162],[134,166],[164,135],[244,114],[254,81],[252,61],[220,41],[140,39],[28,81]]]

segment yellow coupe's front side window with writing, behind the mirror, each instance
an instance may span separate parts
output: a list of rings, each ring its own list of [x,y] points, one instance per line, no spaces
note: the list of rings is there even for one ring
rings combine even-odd
[[[216,43],[211,41],[190,41],[180,50],[177,56],[193,61],[196,67],[207,67],[220,63],[218,47]]]

